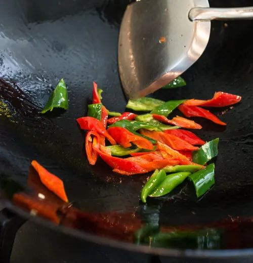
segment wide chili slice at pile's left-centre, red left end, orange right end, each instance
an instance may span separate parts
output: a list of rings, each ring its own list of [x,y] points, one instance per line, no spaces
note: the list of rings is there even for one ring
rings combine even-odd
[[[128,129],[123,127],[110,127],[107,131],[118,144],[125,148],[131,147],[131,143],[133,143],[139,148],[153,150],[153,145],[150,141],[141,136],[132,134]]]

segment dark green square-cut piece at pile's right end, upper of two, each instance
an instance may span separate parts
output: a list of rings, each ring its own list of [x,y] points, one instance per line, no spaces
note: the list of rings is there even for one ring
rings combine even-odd
[[[202,145],[199,150],[192,152],[192,161],[204,165],[218,155],[219,138]]]

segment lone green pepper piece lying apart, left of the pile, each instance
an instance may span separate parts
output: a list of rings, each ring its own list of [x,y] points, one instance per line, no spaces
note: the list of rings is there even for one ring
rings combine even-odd
[[[58,83],[41,113],[52,111],[54,108],[68,109],[68,93],[63,79]]]

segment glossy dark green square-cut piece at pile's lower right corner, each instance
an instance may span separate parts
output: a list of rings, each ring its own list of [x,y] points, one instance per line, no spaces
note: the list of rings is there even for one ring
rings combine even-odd
[[[215,184],[215,164],[211,163],[205,169],[192,173],[189,180],[194,184],[197,197],[200,197]]]

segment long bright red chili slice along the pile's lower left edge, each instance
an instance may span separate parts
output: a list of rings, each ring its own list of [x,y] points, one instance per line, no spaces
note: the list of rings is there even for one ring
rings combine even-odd
[[[118,157],[113,157],[108,153],[102,152],[98,147],[94,147],[94,150],[97,151],[98,155],[114,170],[120,171],[121,174],[132,175],[138,173],[145,173],[147,170],[142,168],[138,163],[126,159],[121,159]]]

